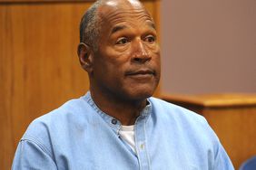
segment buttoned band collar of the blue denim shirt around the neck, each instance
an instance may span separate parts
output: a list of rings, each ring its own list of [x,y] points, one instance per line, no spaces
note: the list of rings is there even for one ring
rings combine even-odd
[[[112,116],[104,113],[101,109],[99,109],[97,107],[97,105],[94,103],[94,99],[92,99],[91,93],[90,91],[88,91],[85,96],[84,96],[85,100],[87,101],[87,103],[103,118],[103,120],[110,126],[113,128],[113,131],[118,134],[119,130],[122,126],[121,122],[116,119],[113,118]],[[146,107],[142,110],[140,117],[142,118],[148,118],[149,115],[152,112],[152,103],[150,101],[150,99],[147,99],[147,105]],[[138,118],[137,118],[138,120]],[[137,122],[137,121],[136,121]],[[136,123],[135,123],[136,124]]]

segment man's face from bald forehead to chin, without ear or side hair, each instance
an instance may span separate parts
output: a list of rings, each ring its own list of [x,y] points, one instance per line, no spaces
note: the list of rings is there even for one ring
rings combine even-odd
[[[151,16],[138,4],[110,4],[99,11],[102,27],[91,86],[118,99],[152,96],[161,69]]]

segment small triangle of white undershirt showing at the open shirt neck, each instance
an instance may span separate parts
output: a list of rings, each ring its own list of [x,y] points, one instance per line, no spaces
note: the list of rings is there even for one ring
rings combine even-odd
[[[120,137],[133,149],[135,152],[135,140],[134,140],[134,126],[121,126],[119,131]]]

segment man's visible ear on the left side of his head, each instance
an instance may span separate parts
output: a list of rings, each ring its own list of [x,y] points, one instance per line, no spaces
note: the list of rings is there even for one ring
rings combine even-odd
[[[92,73],[94,56],[91,47],[85,44],[84,42],[80,42],[78,44],[77,54],[83,69],[87,71],[89,74]]]

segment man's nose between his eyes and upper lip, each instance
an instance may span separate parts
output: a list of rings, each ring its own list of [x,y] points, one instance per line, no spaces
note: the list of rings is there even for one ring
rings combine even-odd
[[[133,61],[143,63],[145,61],[151,60],[151,56],[149,55],[149,52],[145,48],[145,44],[143,44],[141,40],[135,43],[133,48]]]

